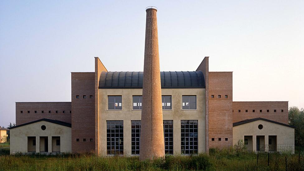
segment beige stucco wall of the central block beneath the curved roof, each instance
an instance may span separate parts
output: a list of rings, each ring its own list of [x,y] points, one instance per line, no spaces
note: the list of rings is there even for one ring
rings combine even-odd
[[[106,155],[106,121],[124,121],[124,155],[131,155],[131,121],[141,120],[141,110],[132,110],[132,97],[142,89],[99,89],[99,154]],[[122,110],[107,110],[107,96],[122,95]],[[172,95],[172,110],[163,110],[163,120],[173,120],[173,154],[181,151],[181,120],[198,120],[198,152],[206,152],[206,97],[203,88],[162,89]],[[182,110],[182,95],[197,96],[197,110]]]

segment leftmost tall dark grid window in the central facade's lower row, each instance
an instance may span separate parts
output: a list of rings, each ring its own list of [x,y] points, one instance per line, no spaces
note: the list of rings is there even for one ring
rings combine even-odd
[[[123,154],[123,121],[107,121],[107,154]]]

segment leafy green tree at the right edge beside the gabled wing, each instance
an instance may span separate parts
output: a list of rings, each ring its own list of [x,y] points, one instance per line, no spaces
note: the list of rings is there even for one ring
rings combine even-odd
[[[288,121],[289,125],[295,126],[295,145],[304,146],[304,109],[290,107]]]

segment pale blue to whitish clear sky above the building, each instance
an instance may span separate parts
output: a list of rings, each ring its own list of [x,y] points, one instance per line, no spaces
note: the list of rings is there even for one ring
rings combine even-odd
[[[233,101],[304,108],[304,1],[0,1],[0,126],[15,102],[71,101],[71,72],[143,71],[145,7],[161,71],[233,71]]]

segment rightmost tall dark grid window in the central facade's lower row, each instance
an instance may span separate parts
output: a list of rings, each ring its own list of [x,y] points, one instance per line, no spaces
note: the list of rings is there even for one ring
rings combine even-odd
[[[181,154],[197,154],[197,120],[181,120]]]

